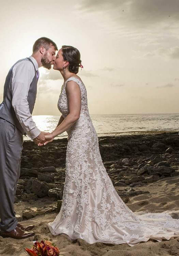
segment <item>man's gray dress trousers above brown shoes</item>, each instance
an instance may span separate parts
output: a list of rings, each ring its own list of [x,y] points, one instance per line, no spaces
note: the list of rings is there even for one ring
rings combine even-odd
[[[17,226],[14,198],[20,176],[23,135],[11,123],[0,118],[0,230],[10,232]]]

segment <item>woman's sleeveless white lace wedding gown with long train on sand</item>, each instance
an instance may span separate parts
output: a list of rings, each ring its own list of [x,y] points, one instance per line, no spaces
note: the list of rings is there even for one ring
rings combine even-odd
[[[66,177],[59,214],[48,227],[53,235],[67,234],[88,243],[127,243],[179,236],[179,220],[167,213],[133,213],[117,194],[99,151],[98,137],[88,112],[87,91],[72,76],[64,83],[58,101],[63,117],[68,115],[65,86],[75,81],[81,91],[81,112],[67,131]]]

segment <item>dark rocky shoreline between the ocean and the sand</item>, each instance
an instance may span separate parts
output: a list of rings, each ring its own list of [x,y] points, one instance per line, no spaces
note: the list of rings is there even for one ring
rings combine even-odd
[[[58,209],[55,206],[28,208],[23,211],[23,219],[59,211],[67,142],[58,139],[44,147],[24,142],[15,203],[31,204],[48,197],[52,203],[58,201]],[[125,203],[132,196],[149,193],[140,187],[179,175],[178,132],[99,137],[99,147],[107,173]]]

